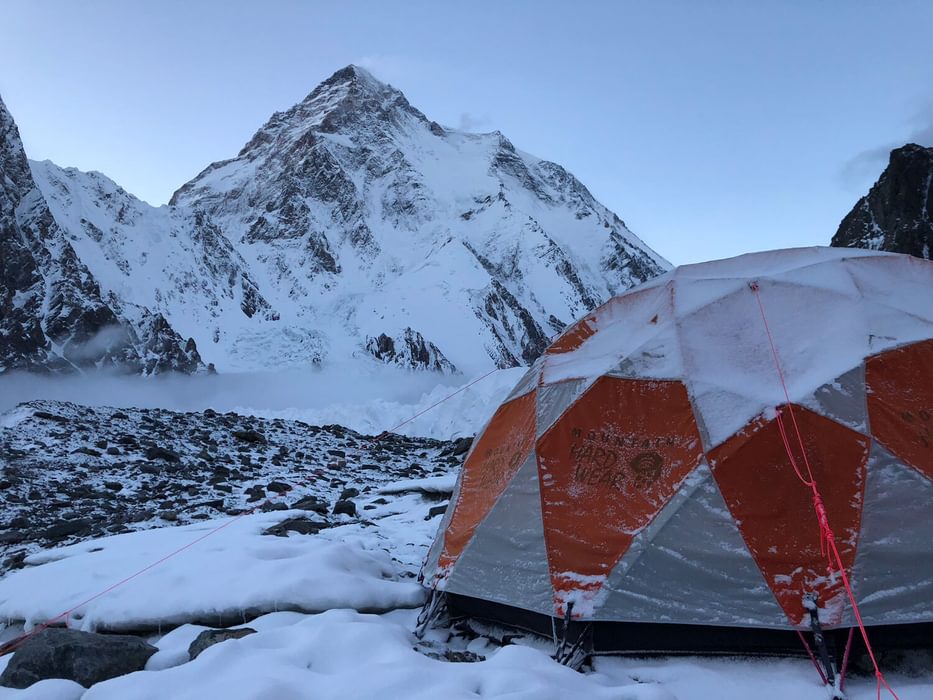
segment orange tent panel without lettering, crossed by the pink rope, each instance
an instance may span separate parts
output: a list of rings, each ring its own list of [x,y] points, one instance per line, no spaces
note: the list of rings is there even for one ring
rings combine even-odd
[[[802,406],[793,410],[840,556],[851,573],[871,441]],[[795,460],[804,470],[789,415],[785,423]],[[823,623],[838,626],[845,590],[838,576],[827,575],[812,492],[790,464],[777,420],[755,421],[710,452],[709,460],[742,537],[791,623],[805,624],[804,594],[814,593]]]

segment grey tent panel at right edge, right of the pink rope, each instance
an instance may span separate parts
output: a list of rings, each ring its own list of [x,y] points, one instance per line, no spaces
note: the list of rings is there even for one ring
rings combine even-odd
[[[866,624],[933,621],[931,503],[933,482],[875,444],[852,574]]]

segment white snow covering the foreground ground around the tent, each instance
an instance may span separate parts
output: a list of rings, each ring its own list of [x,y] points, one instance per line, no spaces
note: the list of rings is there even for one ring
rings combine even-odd
[[[470,404],[475,400],[464,396],[459,409],[448,403],[434,427],[457,432],[458,421],[484,419],[478,404]],[[397,412],[405,411],[398,407]],[[438,504],[437,492],[451,483],[451,476],[442,475],[381,485],[359,501],[373,506],[365,518],[317,534],[263,535],[276,523],[302,515],[275,511],[34,553],[27,559],[32,566],[0,579],[0,620],[9,623],[0,641],[208,535],[82,606],[68,620],[78,629],[150,630],[147,638],[159,652],[146,670],[90,690],[64,680],[27,690],[0,688],[0,700],[827,697],[810,663],[801,659],[598,658],[591,671],[581,674],[552,661],[550,644],[531,637],[498,646],[490,638],[436,629],[419,641],[413,629],[424,593],[415,576],[439,522],[428,511]],[[256,634],[223,642],[188,661],[188,645],[206,629],[191,621],[235,625],[256,611],[265,613],[247,622]],[[445,650],[470,651],[485,660],[434,658]],[[0,670],[9,658],[0,658]],[[891,670],[888,679],[901,700],[933,698],[933,676],[913,678]],[[852,678],[848,691],[852,700],[875,698],[874,679]]]

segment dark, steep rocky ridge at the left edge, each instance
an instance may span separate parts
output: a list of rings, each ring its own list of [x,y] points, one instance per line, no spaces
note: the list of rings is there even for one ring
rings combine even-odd
[[[49,210],[0,101],[0,372],[205,369],[158,311],[107,294]]]

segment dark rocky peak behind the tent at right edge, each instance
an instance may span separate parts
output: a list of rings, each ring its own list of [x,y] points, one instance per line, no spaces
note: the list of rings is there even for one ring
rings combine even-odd
[[[832,245],[906,253],[933,252],[933,148],[907,144],[839,224]]]

